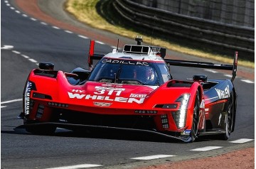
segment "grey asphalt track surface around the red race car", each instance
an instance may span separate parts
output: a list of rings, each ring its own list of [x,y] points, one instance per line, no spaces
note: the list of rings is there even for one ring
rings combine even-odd
[[[195,143],[179,143],[146,133],[73,133],[62,129],[58,129],[55,136],[33,136],[23,129],[17,129],[22,124],[16,116],[22,109],[20,99],[30,70],[41,61],[53,62],[56,70],[65,72],[75,67],[87,67],[89,42],[89,39],[76,33],[31,18],[18,11],[12,1],[1,1],[1,168],[70,165],[85,168],[94,166],[91,164],[102,165],[103,168],[134,168],[165,161],[214,156],[254,146],[254,141],[246,140],[255,137],[254,82],[240,77],[234,82],[238,92],[235,132],[228,141],[205,137]],[[13,48],[4,45],[12,45]],[[107,53],[112,47],[99,42],[97,50]],[[172,74],[181,80],[195,74],[206,74],[208,79],[229,78],[223,72],[184,67],[172,67]],[[240,138],[249,142],[230,142]],[[206,146],[215,146],[217,149],[192,151]],[[163,157],[159,155],[166,155],[166,158],[159,158]],[[144,160],[145,156],[159,159]],[[133,159],[137,157],[144,159]]]

